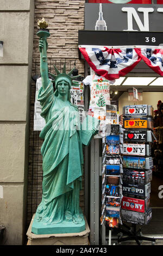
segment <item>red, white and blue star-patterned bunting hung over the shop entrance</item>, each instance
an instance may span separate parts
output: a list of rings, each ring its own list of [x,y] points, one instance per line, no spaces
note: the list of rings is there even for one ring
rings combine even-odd
[[[125,76],[142,59],[152,70],[163,76],[162,48],[108,48],[79,46],[86,62],[100,76],[114,80]]]

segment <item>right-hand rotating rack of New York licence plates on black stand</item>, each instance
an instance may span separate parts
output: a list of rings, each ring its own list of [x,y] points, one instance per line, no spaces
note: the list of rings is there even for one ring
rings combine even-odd
[[[137,224],[147,224],[152,218],[150,192],[153,159],[152,142],[152,106],[133,105],[123,107],[123,198],[121,202],[122,228],[118,242],[139,240],[155,242],[151,237],[144,237]],[[148,136],[147,136],[148,135]],[[132,223],[128,227],[125,222]],[[126,230],[123,229],[126,228]],[[137,230],[136,230],[137,229]],[[127,235],[127,237],[123,237]]]

